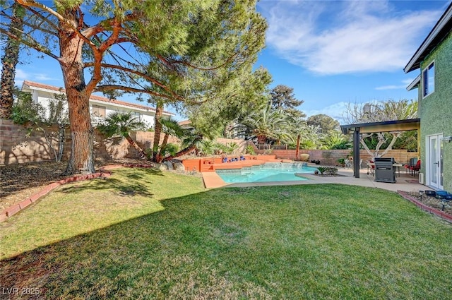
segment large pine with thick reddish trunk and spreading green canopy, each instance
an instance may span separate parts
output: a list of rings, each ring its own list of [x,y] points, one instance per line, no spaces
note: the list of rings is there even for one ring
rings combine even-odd
[[[17,3],[37,21],[23,23],[19,37],[3,21],[13,16],[4,6],[0,32],[61,66],[73,144],[66,174],[95,172],[92,92],[143,92],[184,103],[225,99],[220,95],[249,75],[265,42],[255,0]]]

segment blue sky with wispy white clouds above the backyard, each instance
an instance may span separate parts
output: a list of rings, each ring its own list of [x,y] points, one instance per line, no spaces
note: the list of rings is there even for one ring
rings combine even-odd
[[[304,100],[299,109],[308,116],[327,114],[341,121],[350,102],[415,99],[417,92],[406,87],[419,73],[405,74],[403,67],[449,3],[261,0],[257,9],[268,31],[256,68],[270,71],[270,88],[294,88]],[[56,61],[29,61],[18,66],[18,85],[32,80],[63,86]]]

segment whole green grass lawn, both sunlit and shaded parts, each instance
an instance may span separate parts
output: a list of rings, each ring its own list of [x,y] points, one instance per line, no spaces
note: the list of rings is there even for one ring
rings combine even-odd
[[[45,299],[451,297],[451,225],[374,188],[204,190],[118,169],[62,186],[0,233],[0,286]]]

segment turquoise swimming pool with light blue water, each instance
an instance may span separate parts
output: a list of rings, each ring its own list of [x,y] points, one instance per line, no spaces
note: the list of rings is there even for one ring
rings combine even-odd
[[[307,167],[300,162],[267,162],[259,166],[243,167],[242,169],[220,169],[215,172],[227,184],[243,182],[270,181],[303,181],[308,180],[295,176],[295,173],[314,174],[317,168]]]

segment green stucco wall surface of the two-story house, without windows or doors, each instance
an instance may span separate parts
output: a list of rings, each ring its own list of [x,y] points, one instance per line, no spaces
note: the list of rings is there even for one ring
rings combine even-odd
[[[421,63],[421,74],[424,68],[434,61],[435,90],[422,98],[422,85],[419,91],[419,114],[421,119],[421,160],[426,162],[426,137],[442,133],[452,135],[452,35],[439,44]],[[423,82],[421,75],[421,83]],[[444,189],[452,192],[452,143],[443,142]],[[421,172],[425,174],[426,164],[422,164]]]

